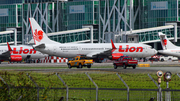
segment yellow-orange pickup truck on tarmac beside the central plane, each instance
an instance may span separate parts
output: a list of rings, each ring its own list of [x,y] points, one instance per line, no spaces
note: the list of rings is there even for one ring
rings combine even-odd
[[[83,68],[83,66],[87,66],[87,68],[91,68],[93,64],[93,59],[87,59],[84,56],[76,56],[73,60],[68,61],[68,68],[77,67]]]

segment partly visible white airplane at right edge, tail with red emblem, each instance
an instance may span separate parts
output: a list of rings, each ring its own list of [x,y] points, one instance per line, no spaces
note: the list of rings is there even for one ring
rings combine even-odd
[[[159,53],[164,55],[170,55],[175,57],[180,57],[180,47],[174,45],[172,42],[170,42],[166,35],[162,32],[158,33],[161,41],[161,46],[163,50],[158,50]]]

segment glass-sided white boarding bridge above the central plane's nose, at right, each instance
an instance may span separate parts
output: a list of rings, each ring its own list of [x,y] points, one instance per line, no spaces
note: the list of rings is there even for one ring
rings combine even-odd
[[[154,43],[159,42],[160,38],[158,32],[162,32],[167,35],[169,40],[174,39],[177,42],[177,24],[166,24],[166,26],[153,27],[147,29],[121,31],[121,32],[106,32],[105,40],[109,42],[113,39],[116,43]]]

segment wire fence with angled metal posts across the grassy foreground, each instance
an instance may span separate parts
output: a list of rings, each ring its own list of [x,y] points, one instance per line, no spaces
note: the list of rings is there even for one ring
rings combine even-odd
[[[173,76],[174,81],[172,80],[172,85],[170,83],[170,86],[173,86],[170,87],[171,89],[166,89],[164,83],[158,87],[154,74],[142,75],[104,72],[40,75],[5,72],[0,73],[0,99],[16,101],[163,101],[167,98],[166,93],[170,92],[171,101],[180,100],[179,74]],[[133,85],[136,86],[133,87]]]

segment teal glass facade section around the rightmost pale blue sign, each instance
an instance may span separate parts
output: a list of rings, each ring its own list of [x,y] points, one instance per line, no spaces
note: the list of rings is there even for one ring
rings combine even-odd
[[[177,0],[141,1],[141,28],[164,26],[166,22],[177,21]]]

